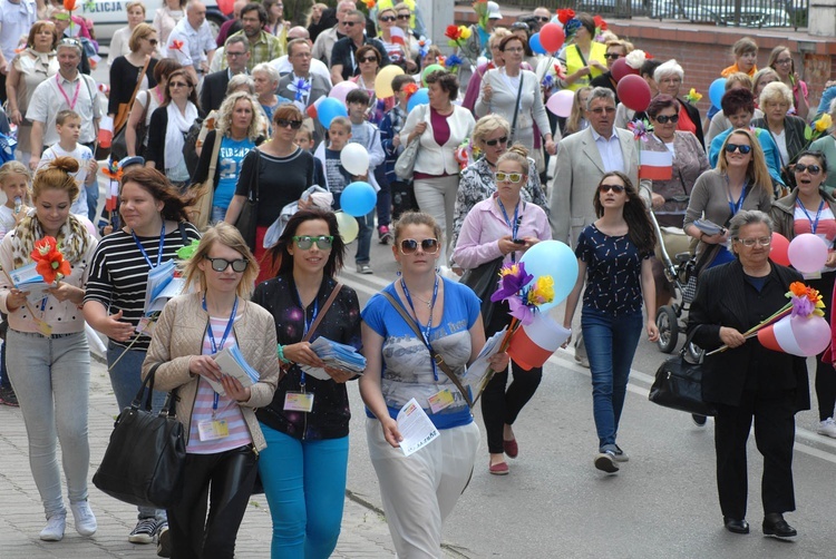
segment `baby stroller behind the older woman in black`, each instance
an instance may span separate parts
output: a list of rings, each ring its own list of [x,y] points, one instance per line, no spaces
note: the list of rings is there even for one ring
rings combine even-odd
[[[659,350],[662,353],[671,353],[677,347],[679,333],[684,333],[687,327],[683,313],[688,311],[697,294],[697,261],[690,252],[691,237],[684,231],[677,227],[660,227],[653,212],[650,212],[650,220],[657,233],[657,258],[662,263],[664,275],[674,291],[672,302],[659,307],[657,312]],[[699,357],[700,350],[696,345],[691,344],[688,351],[693,357]]]

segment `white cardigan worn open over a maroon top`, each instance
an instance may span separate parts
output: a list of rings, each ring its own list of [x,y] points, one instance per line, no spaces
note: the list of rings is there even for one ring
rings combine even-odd
[[[473,136],[476,121],[473,114],[457,105],[453,106],[453,114],[447,117],[447,124],[450,127],[450,137],[444,146],[436,144],[432,134],[432,124],[430,122],[429,105],[422,105],[409,112],[407,122],[400,130],[400,141],[405,146],[409,141],[409,135],[416,126],[422,120],[427,122],[427,129],[420,136],[421,147],[418,149],[418,156],[415,160],[415,173],[425,173],[427,175],[458,175],[460,167],[456,160],[456,148]]]

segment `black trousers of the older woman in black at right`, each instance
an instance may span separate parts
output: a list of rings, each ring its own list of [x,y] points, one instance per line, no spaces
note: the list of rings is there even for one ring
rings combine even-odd
[[[717,489],[725,517],[746,518],[748,498],[746,441],[755,419],[755,441],[764,455],[764,513],[795,510],[793,443],[795,391],[745,391],[740,405],[718,405],[715,418]]]

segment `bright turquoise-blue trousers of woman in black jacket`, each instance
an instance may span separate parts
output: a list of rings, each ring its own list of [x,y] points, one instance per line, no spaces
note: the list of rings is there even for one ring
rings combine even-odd
[[[273,559],[325,559],[340,537],[348,437],[300,441],[261,423],[259,473],[273,518]]]

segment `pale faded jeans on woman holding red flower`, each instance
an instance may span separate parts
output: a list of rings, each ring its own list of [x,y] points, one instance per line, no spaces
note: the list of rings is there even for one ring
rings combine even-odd
[[[9,328],[9,376],[29,441],[29,467],[47,518],[66,513],[56,442],[71,503],[87,499],[90,352],[84,332],[43,337]]]

